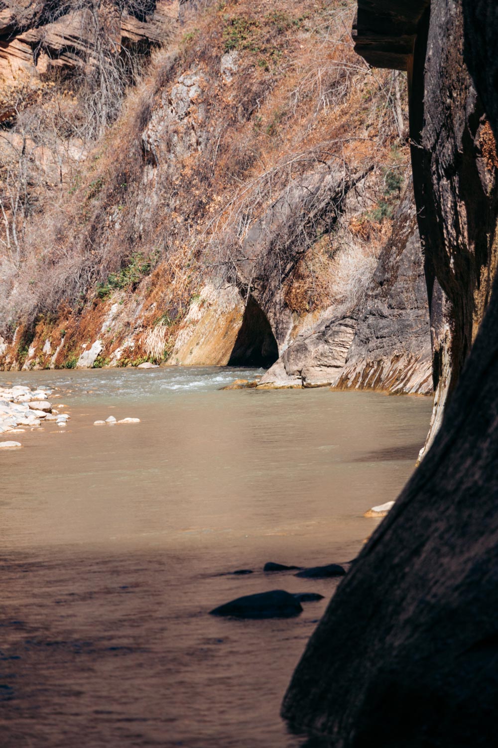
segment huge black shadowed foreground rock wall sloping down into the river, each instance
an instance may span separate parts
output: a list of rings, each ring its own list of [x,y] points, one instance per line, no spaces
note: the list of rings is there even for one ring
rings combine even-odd
[[[405,4],[391,4],[396,5],[402,10]],[[475,91],[470,96],[469,86],[457,86],[467,75],[464,55],[496,137],[497,31],[494,4],[433,0],[427,56],[424,52],[415,66],[421,75],[425,59],[428,132],[433,132],[431,122],[441,112],[448,114],[449,106],[455,115],[460,111],[462,135],[461,150],[455,153],[450,147],[455,120],[443,117],[438,144],[446,142],[448,147],[442,153],[434,144],[439,156],[432,163],[434,171],[423,160],[414,170],[416,191],[424,194],[430,182],[431,195],[437,198],[434,209],[428,206],[420,216],[420,224],[425,236],[431,237],[435,230],[449,228],[447,213],[437,226],[431,223],[436,219],[434,210],[448,209],[460,222],[467,215],[465,230],[472,247],[478,245],[482,224],[492,226],[496,215],[491,215],[491,209],[483,212],[479,224],[466,193],[468,183],[461,174],[458,184],[452,181],[463,164],[473,174],[472,164],[479,159],[466,124],[478,99]],[[447,55],[441,45],[447,45]],[[425,50],[423,31],[416,46],[419,52]],[[424,80],[415,83],[422,91]],[[445,166],[448,179],[441,176]],[[475,198],[479,204],[479,191]],[[455,204],[458,213],[452,212]],[[468,220],[469,213],[474,221]],[[438,215],[441,218],[441,212]],[[476,290],[476,256],[453,243],[455,236],[461,237],[458,221],[451,224],[454,231],[446,232],[440,255],[434,259],[437,272],[455,269],[452,281],[461,279],[458,296],[456,283],[452,287],[448,277],[441,278],[448,292],[454,293],[454,327],[466,319],[464,310],[470,309],[470,293]],[[434,251],[433,245],[429,249]],[[453,263],[443,262],[445,253],[455,258]],[[465,263],[467,275],[458,269]],[[488,266],[484,277],[486,287]],[[431,449],[339,586],[286,695],[283,714],[296,726],[327,736],[334,748],[484,748],[496,743],[498,295],[494,285]],[[470,346],[469,331],[465,326],[456,330],[459,346]],[[464,352],[463,347],[455,350]],[[461,366],[461,359],[455,363]]]

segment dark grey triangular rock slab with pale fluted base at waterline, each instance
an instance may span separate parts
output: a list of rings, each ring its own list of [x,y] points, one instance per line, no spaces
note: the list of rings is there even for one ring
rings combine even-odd
[[[335,387],[432,391],[427,291],[411,186],[396,212]]]

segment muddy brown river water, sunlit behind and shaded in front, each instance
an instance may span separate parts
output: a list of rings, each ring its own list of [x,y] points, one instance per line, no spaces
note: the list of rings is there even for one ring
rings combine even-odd
[[[67,429],[0,455],[0,746],[291,748],[280,701],[335,580],[414,469],[427,398],[218,388],[227,369],[1,373]],[[93,426],[109,415],[141,423]],[[249,568],[253,574],[227,572]],[[320,592],[298,618],[209,610]]]

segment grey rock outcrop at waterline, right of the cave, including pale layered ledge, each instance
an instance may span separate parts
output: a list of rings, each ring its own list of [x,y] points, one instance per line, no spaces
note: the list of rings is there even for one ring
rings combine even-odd
[[[432,392],[427,290],[411,186],[364,297],[353,308],[330,307],[316,325],[299,333],[259,387],[324,384]]]

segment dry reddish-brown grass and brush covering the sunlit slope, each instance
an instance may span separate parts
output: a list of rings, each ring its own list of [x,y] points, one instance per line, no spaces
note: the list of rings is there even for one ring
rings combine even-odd
[[[98,284],[137,255],[153,270],[138,286],[145,325],[155,324],[158,310],[181,318],[206,276],[230,275],[234,247],[250,223],[292,180],[324,162],[348,174],[372,164],[378,179],[366,201],[375,206],[383,194],[381,166],[402,172],[408,153],[396,132],[391,74],[369,70],[352,50],[353,10],[352,1],[239,0],[192,15],[168,49],[153,54],[70,193],[31,217],[22,263],[2,271],[1,330],[9,334],[19,320],[30,327],[40,314],[58,319],[61,304],[73,317],[91,310]],[[220,75],[227,50],[237,52],[239,65],[230,85]],[[172,168],[154,168],[142,134],[162,96],[190,70],[210,82],[206,145]],[[401,159],[393,158],[393,146]],[[153,193],[144,182],[151,170]],[[358,218],[351,233],[378,242],[388,221],[377,226]],[[309,231],[301,236],[306,257],[286,297],[296,310],[330,298],[323,281],[313,290],[319,274],[306,269],[313,265],[306,254],[316,245],[313,230],[314,238]]]

